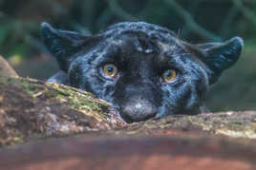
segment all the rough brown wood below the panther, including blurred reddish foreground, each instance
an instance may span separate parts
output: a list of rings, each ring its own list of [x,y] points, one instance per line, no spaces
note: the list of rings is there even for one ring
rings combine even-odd
[[[255,169],[255,139],[255,111],[127,124],[90,93],[0,76],[0,169]]]

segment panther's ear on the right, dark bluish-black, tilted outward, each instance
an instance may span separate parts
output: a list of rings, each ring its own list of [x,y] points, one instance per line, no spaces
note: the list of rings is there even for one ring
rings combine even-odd
[[[203,56],[200,59],[207,66],[210,84],[214,84],[224,69],[238,61],[244,41],[240,37],[234,37],[224,43],[206,43],[197,47],[203,50]]]

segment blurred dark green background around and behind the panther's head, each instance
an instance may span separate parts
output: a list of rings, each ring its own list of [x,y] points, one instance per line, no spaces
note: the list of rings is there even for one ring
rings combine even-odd
[[[46,80],[57,66],[40,41],[42,21],[84,34],[145,21],[190,43],[239,35],[245,39],[243,56],[211,88],[207,105],[213,111],[256,109],[255,0],[0,0],[0,55],[19,75]]]

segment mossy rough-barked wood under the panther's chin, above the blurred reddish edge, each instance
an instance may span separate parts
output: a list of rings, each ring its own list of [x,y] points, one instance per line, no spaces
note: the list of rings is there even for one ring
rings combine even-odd
[[[88,92],[30,78],[0,77],[1,146],[78,133],[161,136],[170,130],[256,139],[256,112],[173,115],[127,124],[111,104]]]

